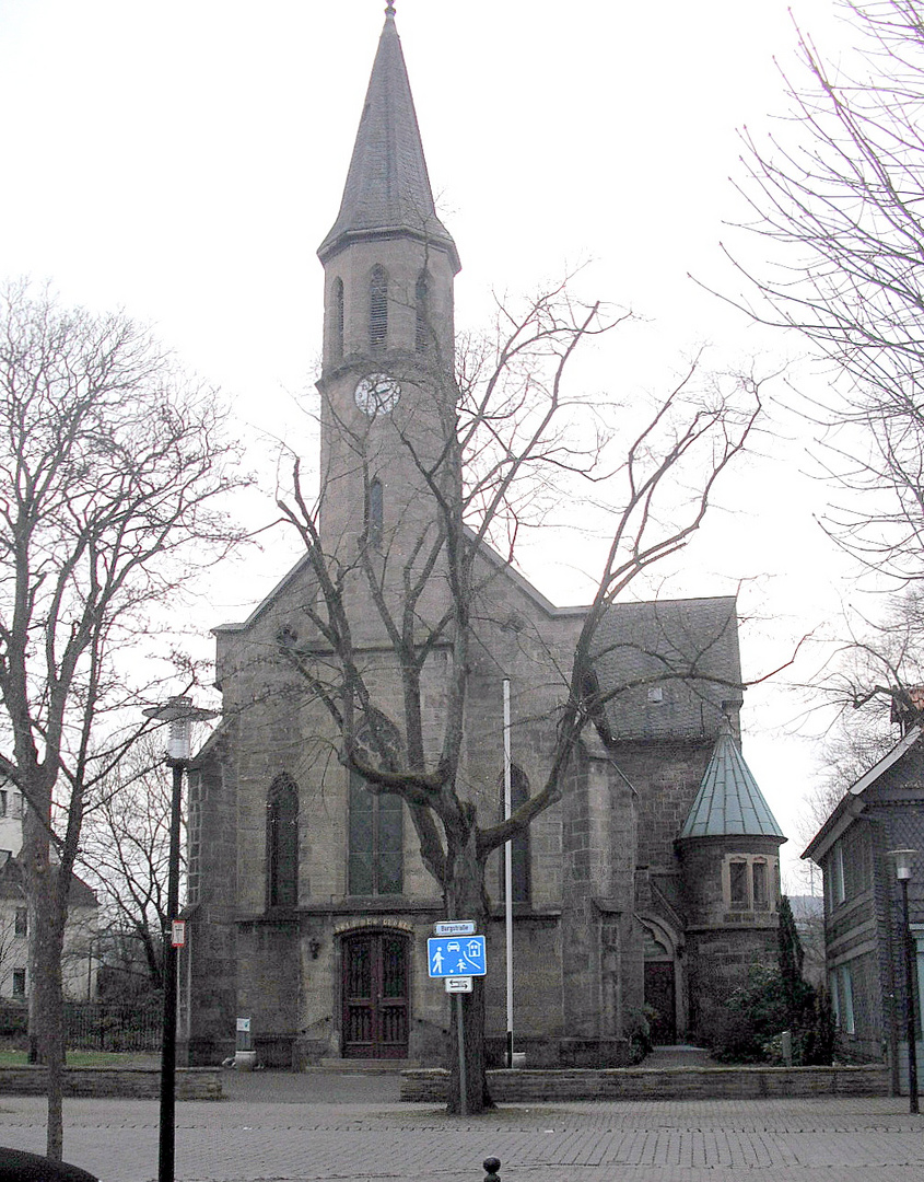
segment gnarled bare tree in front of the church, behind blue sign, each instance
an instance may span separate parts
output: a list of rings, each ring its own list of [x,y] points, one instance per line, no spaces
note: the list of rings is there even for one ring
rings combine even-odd
[[[607,325],[598,306],[575,304],[565,287],[541,294],[522,314],[501,309],[499,327],[496,345],[474,362],[463,359],[460,377],[432,357],[436,350],[425,382],[419,362],[409,366],[403,379],[417,391],[412,408],[396,402],[389,413],[391,404],[383,404],[366,408],[359,427],[356,416],[328,424],[328,463],[338,454],[338,470],[358,473],[366,493],[357,545],[327,519],[340,492],[333,468],[323,470],[312,501],[295,462],[291,493],[280,496],[317,586],[304,605],[305,628],[284,629],[281,650],[302,693],[332,720],[339,758],[370,792],[405,801],[447,916],[474,918],[482,931],[488,856],[561,798],[585,727],[601,722],[619,694],[638,688],[598,676],[611,604],[694,535],[760,407],[751,378],[703,391],[692,370],[648,415],[575,397],[566,383],[574,352]],[[393,370],[398,363],[389,364]],[[388,385],[380,396],[391,397]],[[334,411],[327,404],[323,414]],[[414,486],[406,511],[391,524],[376,519],[370,498],[383,455],[402,465]],[[464,752],[473,669],[490,643],[492,621],[503,612],[494,595],[507,567],[489,543],[514,560],[531,507],[558,501],[567,480],[585,482],[584,513],[592,501],[609,540],[593,600],[558,649],[525,622],[510,624],[525,629],[523,649],[545,645],[544,684],[534,687],[532,708],[549,720],[553,739],[544,752],[544,781],[499,821],[496,786],[490,807],[480,812]],[[571,508],[573,514],[574,499]],[[373,654],[370,629],[380,638]],[[650,680],[684,675],[696,670],[665,662]],[[480,1111],[488,1103],[481,982],[464,1005],[466,1104]],[[450,1110],[460,1108],[456,1069]]]

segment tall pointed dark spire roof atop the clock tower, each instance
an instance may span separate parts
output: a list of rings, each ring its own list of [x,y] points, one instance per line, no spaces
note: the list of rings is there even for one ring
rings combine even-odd
[[[395,9],[389,5],[340,212],[318,256],[326,262],[350,241],[398,235],[448,251],[458,271],[455,242],[436,216]]]

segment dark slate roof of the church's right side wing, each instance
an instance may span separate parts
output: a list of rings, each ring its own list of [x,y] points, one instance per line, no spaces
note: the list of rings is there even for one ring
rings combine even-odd
[[[613,604],[594,665],[611,739],[712,739],[742,697],[735,598]]]

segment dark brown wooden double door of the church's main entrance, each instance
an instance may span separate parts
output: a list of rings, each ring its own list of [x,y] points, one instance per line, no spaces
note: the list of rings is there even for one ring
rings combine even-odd
[[[343,1056],[406,1059],[408,939],[363,931],[343,941]]]

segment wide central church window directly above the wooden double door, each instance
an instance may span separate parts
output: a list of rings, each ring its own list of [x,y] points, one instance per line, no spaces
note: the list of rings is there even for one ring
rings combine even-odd
[[[404,805],[392,792],[370,792],[350,773],[351,895],[401,895],[404,889]]]

